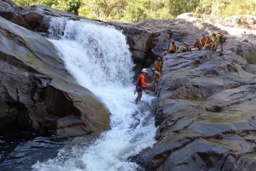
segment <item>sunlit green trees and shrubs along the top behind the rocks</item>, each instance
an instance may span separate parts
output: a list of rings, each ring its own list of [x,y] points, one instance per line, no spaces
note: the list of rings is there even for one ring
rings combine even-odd
[[[13,0],[20,6],[40,4],[90,19],[138,22],[167,20],[193,12],[212,20],[231,15],[256,15],[256,0]]]

